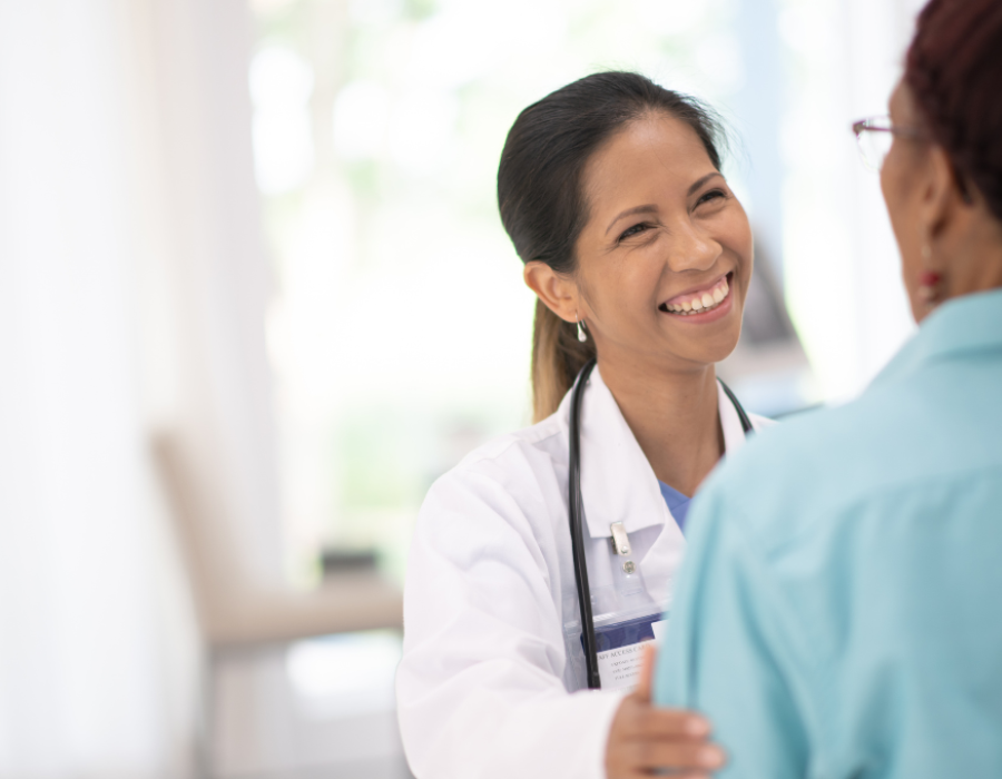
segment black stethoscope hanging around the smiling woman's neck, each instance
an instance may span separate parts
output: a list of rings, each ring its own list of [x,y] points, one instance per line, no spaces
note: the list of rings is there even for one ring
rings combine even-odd
[[[584,385],[595,368],[595,357],[589,359],[581,373],[578,374],[574,391],[571,394],[570,407],[570,463],[568,465],[568,514],[570,516],[571,551],[574,559],[574,580],[578,584],[578,603],[581,607],[581,635],[584,643],[584,667],[589,690],[601,688],[598,670],[598,650],[595,642],[595,618],[591,613],[591,589],[588,586],[588,564],[584,561],[584,532],[582,524],[582,509],[584,501],[581,497],[581,397],[584,394]],[[719,379],[717,379],[719,381]],[[752,421],[741,407],[735,394],[724,382],[720,382],[724,394],[734,404],[741,428],[745,435],[752,432]]]

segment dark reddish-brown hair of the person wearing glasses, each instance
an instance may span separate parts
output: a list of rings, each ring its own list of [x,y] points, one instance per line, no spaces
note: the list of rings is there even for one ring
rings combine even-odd
[[[976,188],[1002,220],[1002,2],[932,0],[904,80],[961,187]]]

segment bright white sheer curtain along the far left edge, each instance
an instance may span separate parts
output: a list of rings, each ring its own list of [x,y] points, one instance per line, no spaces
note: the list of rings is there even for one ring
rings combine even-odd
[[[184,777],[202,639],[148,446],[126,16],[0,3],[0,776]]]

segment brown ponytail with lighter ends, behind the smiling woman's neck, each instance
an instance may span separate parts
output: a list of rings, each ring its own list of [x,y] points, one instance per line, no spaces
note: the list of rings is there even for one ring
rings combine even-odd
[[[577,327],[536,302],[532,328],[532,422],[557,411],[584,363],[595,357],[595,341],[578,341]]]

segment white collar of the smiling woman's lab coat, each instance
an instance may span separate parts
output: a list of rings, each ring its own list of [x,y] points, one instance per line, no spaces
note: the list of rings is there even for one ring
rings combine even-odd
[[[569,392],[560,404],[559,417],[569,428]],[[717,383],[717,402],[724,428],[727,454],[745,444],[745,433],[737,411]],[[598,366],[588,377],[581,398],[581,497],[591,538],[611,535],[609,525],[622,522],[632,533],[651,525],[665,524],[671,513],[661,496],[657,476],[633,437],[619,405]]]

